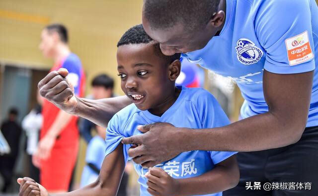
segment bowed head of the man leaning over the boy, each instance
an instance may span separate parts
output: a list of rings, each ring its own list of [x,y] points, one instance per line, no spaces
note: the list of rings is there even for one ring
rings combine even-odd
[[[201,49],[222,29],[224,1],[144,0],[145,31],[165,55]]]

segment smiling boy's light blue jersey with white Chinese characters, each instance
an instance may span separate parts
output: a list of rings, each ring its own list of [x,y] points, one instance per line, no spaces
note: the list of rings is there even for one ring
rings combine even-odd
[[[137,130],[138,125],[155,122],[168,122],[176,127],[196,129],[220,127],[230,123],[217,100],[209,92],[203,89],[182,87],[177,100],[161,117],[151,114],[148,110],[142,111],[135,104],[116,113],[107,127],[106,155],[111,153],[124,137],[142,134]],[[131,159],[127,154],[130,147],[131,145],[124,145],[123,153],[126,162]],[[176,179],[191,178],[212,170],[216,164],[234,154],[236,152],[189,151],[156,167],[162,168]],[[144,177],[148,169],[143,169],[141,165],[137,164],[134,166],[140,176],[138,182],[141,185],[141,195],[150,196],[147,192],[147,178]],[[222,196],[222,193],[208,196]]]

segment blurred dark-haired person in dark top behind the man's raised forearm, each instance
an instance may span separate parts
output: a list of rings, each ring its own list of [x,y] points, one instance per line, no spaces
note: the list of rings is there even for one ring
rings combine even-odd
[[[89,98],[111,98],[113,97],[114,80],[106,74],[100,74],[93,78],[91,82],[91,95]],[[79,123],[79,132],[82,138],[88,144],[92,139],[91,131],[95,128],[95,124],[91,121],[81,118]]]

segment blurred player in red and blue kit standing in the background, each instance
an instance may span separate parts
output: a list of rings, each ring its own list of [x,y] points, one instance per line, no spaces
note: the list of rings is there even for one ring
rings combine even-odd
[[[68,46],[67,28],[62,24],[45,27],[39,48],[45,57],[54,60],[50,72],[67,69],[67,83],[82,97],[84,72],[79,57],[71,53]],[[68,88],[66,83],[60,85]],[[62,111],[48,100],[43,103],[42,115],[43,127],[33,163],[40,168],[40,182],[50,193],[67,192],[79,149],[78,117]]]

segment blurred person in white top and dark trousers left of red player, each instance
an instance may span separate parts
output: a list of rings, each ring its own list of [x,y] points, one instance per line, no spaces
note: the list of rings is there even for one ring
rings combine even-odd
[[[38,141],[39,132],[42,128],[42,104],[44,98],[40,96],[39,91],[36,93],[37,104],[35,107],[23,118],[22,128],[26,132],[26,154],[29,165],[29,175],[36,182],[40,182],[40,171],[39,168],[35,167],[32,163],[32,155],[34,154]]]

